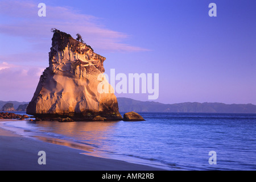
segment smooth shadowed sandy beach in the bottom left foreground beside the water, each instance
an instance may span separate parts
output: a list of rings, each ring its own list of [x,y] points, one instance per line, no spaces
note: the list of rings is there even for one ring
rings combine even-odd
[[[7,121],[1,119],[2,121]],[[38,164],[39,151],[46,152],[46,164]],[[88,156],[60,144],[43,142],[15,134],[0,125],[1,171],[156,171],[163,170],[121,160]]]

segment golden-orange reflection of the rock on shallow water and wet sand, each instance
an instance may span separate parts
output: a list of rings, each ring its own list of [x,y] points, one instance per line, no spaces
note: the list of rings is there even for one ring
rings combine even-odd
[[[55,121],[37,121],[29,123],[29,125],[37,125],[42,131],[46,130],[47,133],[55,133],[63,136],[68,136],[73,139],[78,139],[82,143],[77,143],[71,140],[58,139],[54,137],[44,137],[42,135],[33,136],[44,142],[60,144],[67,147],[83,150],[88,153],[81,153],[97,157],[106,157],[104,151],[97,150],[98,146],[104,146],[105,149],[110,149],[108,140],[108,133],[114,134],[115,127],[118,121],[113,122],[55,122]],[[49,131],[48,129],[51,129]]]

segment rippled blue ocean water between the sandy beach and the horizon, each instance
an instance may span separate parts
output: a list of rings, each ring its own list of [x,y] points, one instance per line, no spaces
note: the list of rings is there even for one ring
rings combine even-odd
[[[139,114],[146,121],[8,121],[4,126],[27,137],[80,148],[86,155],[166,170],[256,170],[256,114]]]

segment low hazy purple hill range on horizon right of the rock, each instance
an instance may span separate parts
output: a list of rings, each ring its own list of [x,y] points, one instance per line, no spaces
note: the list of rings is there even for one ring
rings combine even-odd
[[[170,113],[256,113],[253,104],[223,104],[210,102],[183,102],[179,104],[162,104],[154,101],[137,101],[118,97],[120,112],[170,112]]]

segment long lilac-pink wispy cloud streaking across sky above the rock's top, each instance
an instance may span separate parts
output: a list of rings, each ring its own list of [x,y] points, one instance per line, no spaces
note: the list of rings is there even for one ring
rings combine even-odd
[[[77,13],[72,7],[46,6],[47,16],[38,16],[36,3],[30,1],[2,1],[0,14],[9,19],[1,19],[0,34],[22,36],[35,43],[50,40],[51,28],[57,28],[75,36],[79,32],[86,43],[94,49],[109,51],[147,51],[146,48],[124,43],[129,35],[110,30],[92,15]],[[45,41],[44,41],[45,42]]]

